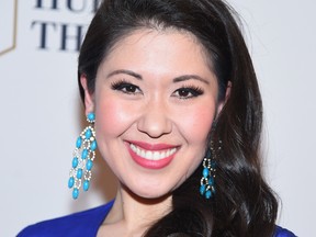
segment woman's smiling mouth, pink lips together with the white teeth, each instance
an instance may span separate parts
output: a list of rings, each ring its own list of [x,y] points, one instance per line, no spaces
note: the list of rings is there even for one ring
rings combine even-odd
[[[161,169],[172,161],[179,146],[128,142],[127,149],[137,165],[147,169]]]

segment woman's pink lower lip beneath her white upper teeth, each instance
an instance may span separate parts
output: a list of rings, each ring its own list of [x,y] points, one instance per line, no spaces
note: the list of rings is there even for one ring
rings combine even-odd
[[[172,161],[172,159],[173,159],[173,157],[174,157],[174,155],[177,153],[176,151],[171,156],[166,157],[166,158],[160,159],[160,160],[148,160],[148,159],[145,159],[143,157],[137,156],[137,154],[135,154],[131,149],[129,144],[127,145],[127,149],[128,149],[128,153],[129,153],[131,157],[133,158],[133,160],[137,165],[139,165],[139,166],[142,166],[142,167],[144,167],[146,169],[162,169],[162,168],[167,167]]]

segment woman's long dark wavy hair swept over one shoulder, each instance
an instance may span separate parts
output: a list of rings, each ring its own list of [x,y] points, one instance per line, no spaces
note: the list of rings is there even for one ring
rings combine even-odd
[[[227,83],[232,83],[229,99],[211,137],[215,146],[222,140],[216,194],[211,200],[200,194],[202,170],[198,168],[173,192],[172,211],[153,224],[146,236],[268,237],[273,234],[278,202],[262,178],[259,155],[261,97],[236,18],[222,0],[104,0],[87,32],[78,66],[82,99],[80,76],[86,75],[93,93],[101,61],[115,43],[139,29],[192,33],[205,48],[216,75],[218,100],[224,100]]]

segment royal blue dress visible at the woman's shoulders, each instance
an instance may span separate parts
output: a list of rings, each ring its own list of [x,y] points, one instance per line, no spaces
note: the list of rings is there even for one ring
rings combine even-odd
[[[112,205],[113,201],[95,208],[31,225],[18,234],[18,237],[95,237]],[[273,237],[295,235],[276,226]]]

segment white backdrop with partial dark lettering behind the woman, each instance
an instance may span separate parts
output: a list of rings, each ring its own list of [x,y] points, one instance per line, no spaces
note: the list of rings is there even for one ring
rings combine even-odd
[[[26,225],[97,206],[114,195],[114,178],[100,159],[89,194],[72,201],[67,188],[72,149],[83,125],[77,90],[80,38],[74,35],[84,32],[95,2],[0,0],[0,236],[15,236]],[[279,224],[298,236],[312,236],[316,3],[229,2],[246,22],[262,91],[263,154],[267,179],[282,199]]]

